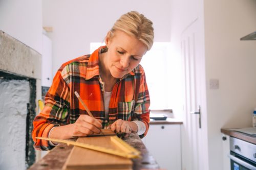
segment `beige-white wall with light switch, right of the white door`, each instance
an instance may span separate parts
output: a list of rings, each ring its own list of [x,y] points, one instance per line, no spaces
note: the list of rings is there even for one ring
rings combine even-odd
[[[205,56],[210,169],[221,169],[224,128],[252,126],[256,107],[256,41],[240,38],[256,31],[256,1],[205,1]],[[209,79],[220,88],[209,89]]]

